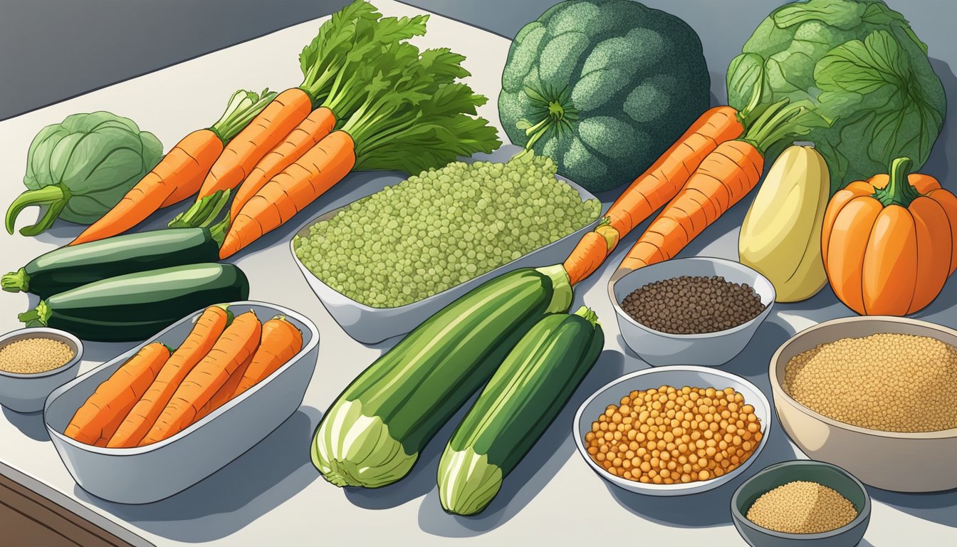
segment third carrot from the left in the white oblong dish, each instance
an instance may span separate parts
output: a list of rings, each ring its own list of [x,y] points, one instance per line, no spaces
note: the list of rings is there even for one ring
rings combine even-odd
[[[185,429],[226,380],[259,343],[262,326],[256,313],[247,311],[236,317],[222,336],[176,388],[166,408],[146,433],[140,446],[153,444]]]

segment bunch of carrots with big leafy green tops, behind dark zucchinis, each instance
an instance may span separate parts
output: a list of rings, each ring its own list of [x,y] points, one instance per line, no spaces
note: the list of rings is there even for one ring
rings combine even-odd
[[[405,41],[425,34],[427,20],[382,17],[355,0],[302,50],[299,87],[271,97],[235,134],[201,130],[212,145],[184,139],[71,244],[120,234],[192,195],[195,203],[169,226],[209,225],[225,207],[224,193],[232,193],[225,259],[350,171],[418,172],[498,148],[496,130],[476,116],[485,98],[456,81],[469,75],[464,57],[419,52]],[[204,147],[209,153],[200,153]]]

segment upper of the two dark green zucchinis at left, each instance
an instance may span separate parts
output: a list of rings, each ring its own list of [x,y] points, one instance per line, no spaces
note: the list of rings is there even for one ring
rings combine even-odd
[[[209,228],[153,230],[60,247],[4,275],[0,286],[49,298],[111,277],[218,260]]]

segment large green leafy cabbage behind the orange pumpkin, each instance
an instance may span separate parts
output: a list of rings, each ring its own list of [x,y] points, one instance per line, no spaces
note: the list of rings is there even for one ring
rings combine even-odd
[[[831,124],[808,138],[828,162],[832,193],[898,156],[924,165],[944,124],[944,86],[926,45],[880,0],[788,4],[742,52],[728,67],[728,103],[744,108],[763,77],[762,103],[815,104]]]

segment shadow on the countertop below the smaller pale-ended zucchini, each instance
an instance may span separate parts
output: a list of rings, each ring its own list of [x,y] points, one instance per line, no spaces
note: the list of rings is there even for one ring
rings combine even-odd
[[[427,475],[428,493],[419,507],[419,528],[434,536],[480,536],[508,522],[541,492],[548,481],[563,467],[575,451],[571,428],[575,412],[581,403],[601,386],[621,376],[624,356],[606,350],[601,353],[589,376],[568,400],[545,434],[522,460],[518,467],[502,481],[501,490],[484,512],[475,516],[445,513],[438,499],[434,466]],[[450,432],[451,433],[451,432]],[[444,443],[440,447],[444,449]]]

